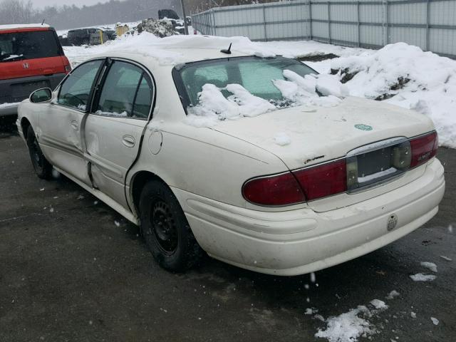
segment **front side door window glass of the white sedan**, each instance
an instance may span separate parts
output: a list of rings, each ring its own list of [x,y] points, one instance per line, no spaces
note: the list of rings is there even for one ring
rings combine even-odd
[[[58,103],[86,111],[90,100],[90,91],[102,63],[102,60],[90,61],[73,70],[61,85]]]

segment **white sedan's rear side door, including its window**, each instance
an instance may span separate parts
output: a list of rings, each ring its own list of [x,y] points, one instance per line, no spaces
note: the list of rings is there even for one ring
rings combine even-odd
[[[128,209],[125,177],[140,152],[155,88],[142,66],[118,59],[108,64],[84,125],[86,158],[93,187]]]

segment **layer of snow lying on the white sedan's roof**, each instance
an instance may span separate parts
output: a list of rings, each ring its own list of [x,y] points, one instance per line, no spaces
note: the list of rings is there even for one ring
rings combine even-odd
[[[232,44],[231,54],[220,52]],[[136,36],[125,36],[108,46],[100,46],[94,51],[97,56],[124,57],[135,54],[135,58],[150,63],[153,58],[160,66],[175,66],[181,63],[204,59],[227,58],[234,56],[276,56],[268,48],[259,47],[245,37],[214,36],[170,36],[157,38],[152,33],[143,32]]]

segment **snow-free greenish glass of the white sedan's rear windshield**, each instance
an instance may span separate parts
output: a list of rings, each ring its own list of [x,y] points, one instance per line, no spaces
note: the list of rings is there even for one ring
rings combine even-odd
[[[207,83],[217,86],[225,98],[232,95],[227,86],[238,84],[254,96],[279,103],[284,101],[284,95],[275,81],[284,81],[286,70],[301,77],[318,74],[309,66],[289,58],[226,58],[186,64],[179,70],[182,85],[178,88],[181,88],[185,107],[198,104],[199,93]]]

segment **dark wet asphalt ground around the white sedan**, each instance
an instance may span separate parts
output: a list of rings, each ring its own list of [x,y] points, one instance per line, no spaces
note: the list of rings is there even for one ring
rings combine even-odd
[[[14,125],[3,123],[0,341],[326,341],[314,337],[325,323],[306,308],[327,318],[373,299],[389,309],[369,319],[379,331],[371,341],[456,341],[456,232],[448,229],[456,228],[456,150],[438,157],[447,190],[437,216],[388,247],[316,272],[316,283],[209,258],[171,274],[138,228],[103,202],[64,177],[39,180]],[[435,281],[410,279],[430,273],[420,261],[437,264]],[[386,300],[392,290],[400,296]]]

